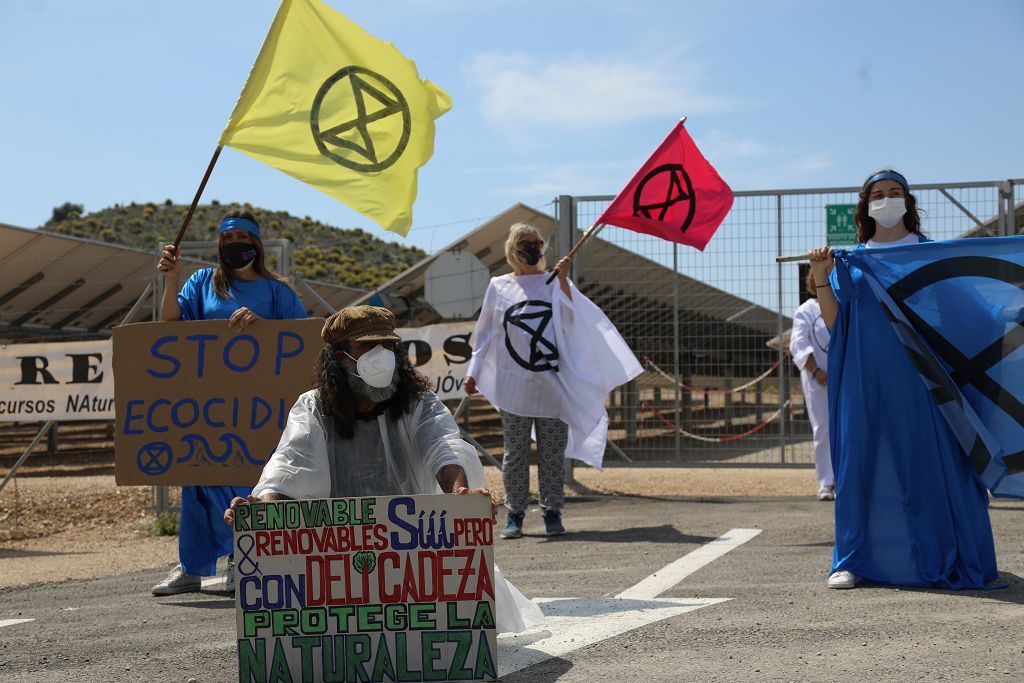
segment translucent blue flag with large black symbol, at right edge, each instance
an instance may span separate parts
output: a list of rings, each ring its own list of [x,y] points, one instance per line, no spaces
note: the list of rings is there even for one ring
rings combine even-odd
[[[1024,499],[1024,237],[837,250],[836,262],[841,290],[881,304],[981,482]]]

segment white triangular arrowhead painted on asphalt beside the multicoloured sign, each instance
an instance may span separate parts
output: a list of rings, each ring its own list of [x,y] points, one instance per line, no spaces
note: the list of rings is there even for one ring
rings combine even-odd
[[[498,637],[498,675],[507,676],[648,624],[729,599],[538,598],[535,602],[544,610],[544,625],[525,633]]]

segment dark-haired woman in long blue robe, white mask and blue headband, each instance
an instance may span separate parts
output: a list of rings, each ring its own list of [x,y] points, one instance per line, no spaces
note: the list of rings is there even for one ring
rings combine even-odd
[[[892,170],[864,182],[855,221],[857,249],[926,241],[916,200]],[[828,587],[853,588],[863,579],[984,588],[997,577],[988,494],[863,271],[844,252],[838,258],[834,269],[830,249],[810,253],[821,283],[821,315],[833,337],[828,417],[836,547]]]

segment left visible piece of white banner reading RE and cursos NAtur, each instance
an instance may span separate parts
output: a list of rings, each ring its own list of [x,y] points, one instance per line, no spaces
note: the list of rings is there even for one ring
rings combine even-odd
[[[112,419],[109,339],[0,345],[0,422]]]

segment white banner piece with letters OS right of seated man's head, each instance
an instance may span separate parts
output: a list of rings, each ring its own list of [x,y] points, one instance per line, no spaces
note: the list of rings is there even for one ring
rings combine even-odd
[[[475,323],[446,323],[395,330],[413,367],[430,380],[430,388],[441,400],[466,395],[462,385],[473,355],[475,327]]]

